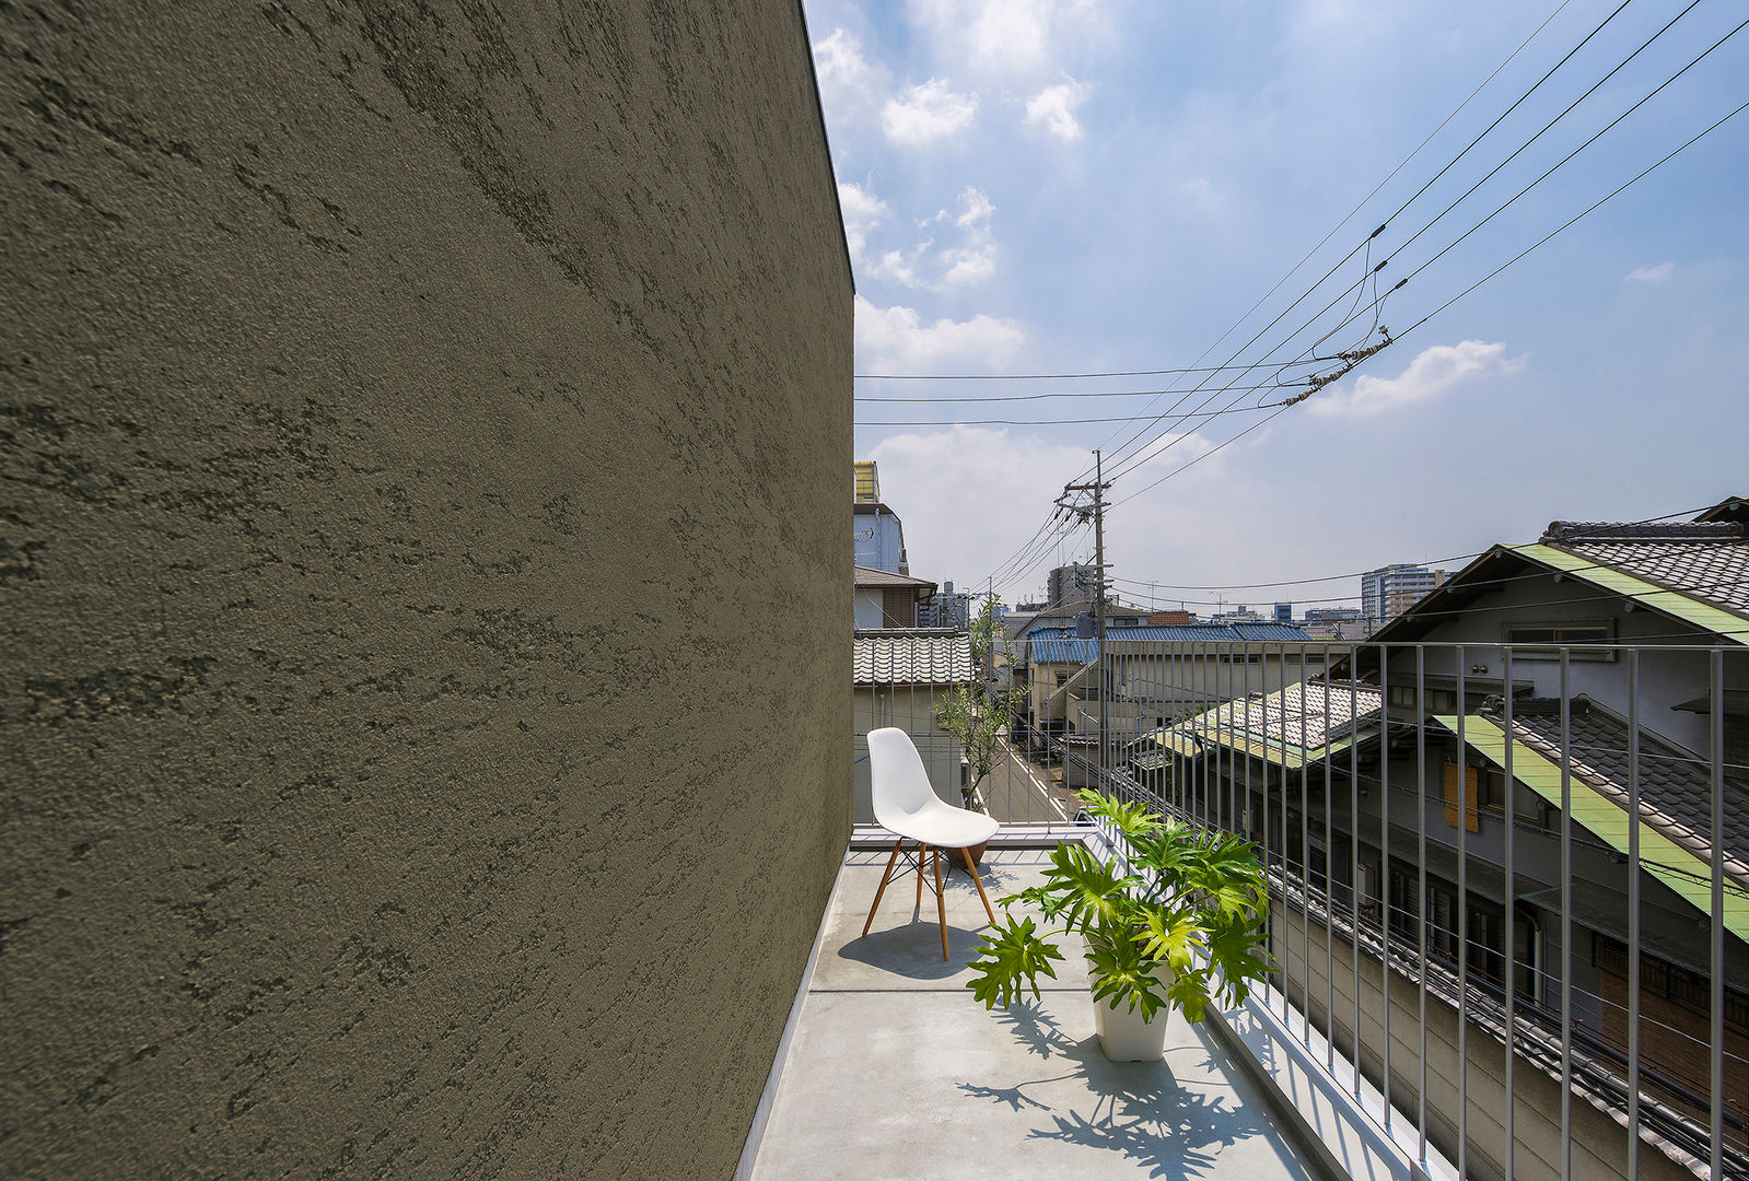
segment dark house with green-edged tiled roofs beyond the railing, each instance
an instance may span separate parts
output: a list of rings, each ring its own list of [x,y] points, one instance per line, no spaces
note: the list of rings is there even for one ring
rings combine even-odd
[[[1357,646],[1327,682],[1188,719],[1139,744],[1133,770],[1153,782],[1174,761],[1161,779],[1191,786],[1193,808],[1244,800],[1233,826],[1277,864],[1375,929],[1385,908],[1401,945],[1413,954],[1425,938],[1443,969],[1467,948],[1469,978],[1499,996],[1511,989],[1520,1018],[1543,1029],[1560,1029],[1565,959],[1576,1045],[1586,1064],[1618,1073],[1637,787],[1637,1045],[1642,1078],[1655,1080],[1642,1092],[1704,1125],[1716,849],[1725,1094],[1749,1095],[1749,992],[1739,987],[1749,978],[1749,541],[1730,509],[1714,513],[1679,525],[1557,521],[1534,544],[1494,546]],[[1558,646],[1572,646],[1565,660]],[[1749,1151],[1742,1115],[1726,1122],[1733,1151]]]

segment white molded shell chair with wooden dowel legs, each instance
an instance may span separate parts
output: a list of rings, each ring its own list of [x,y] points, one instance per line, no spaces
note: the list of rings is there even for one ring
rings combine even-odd
[[[874,891],[874,905],[869,906],[868,922],[862,934],[874,924],[874,912],[880,910],[880,898],[892,880],[892,868],[899,863],[899,852],[906,840],[916,842],[916,906],[923,905],[923,857],[936,850],[936,915],[941,919],[941,959],[948,959],[948,903],[941,896],[941,850],[981,845],[995,836],[1002,828],[981,812],[955,808],[943,803],[929,786],[929,772],[911,742],[911,735],[895,726],[869,731],[869,787],[874,796],[874,821],[899,840],[892,843],[892,856],[887,857],[887,873]],[[995,922],[990,910],[990,896],[983,891],[983,878],[978,877],[978,863],[969,856],[962,863],[972,871],[978,884],[978,898],[983,899],[985,913]]]

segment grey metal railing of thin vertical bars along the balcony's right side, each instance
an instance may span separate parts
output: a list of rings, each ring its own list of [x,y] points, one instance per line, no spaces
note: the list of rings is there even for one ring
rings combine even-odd
[[[1268,1003],[1422,1162],[1749,1178],[1749,651],[1266,647],[1111,644],[1107,731],[1097,693],[1021,712],[979,805],[1049,833],[1095,786],[1256,840]]]

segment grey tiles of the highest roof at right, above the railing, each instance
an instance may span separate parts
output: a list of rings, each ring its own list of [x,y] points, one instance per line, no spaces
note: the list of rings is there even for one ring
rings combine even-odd
[[[1543,544],[1749,616],[1749,539],[1737,521],[1553,521]]]

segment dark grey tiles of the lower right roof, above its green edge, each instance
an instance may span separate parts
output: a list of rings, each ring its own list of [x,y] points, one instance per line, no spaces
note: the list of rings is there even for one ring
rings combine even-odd
[[[1499,707],[1481,716],[1504,726]],[[1513,737],[1560,763],[1560,700],[1513,702]],[[1623,812],[1628,808],[1628,724],[1585,695],[1572,698],[1567,712],[1567,751],[1572,775]],[[1649,828],[1669,836],[1700,861],[1712,857],[1712,773],[1693,754],[1681,751],[1644,726],[1639,759],[1641,815]],[[1725,780],[1725,868],[1749,882],[1749,787]]]

